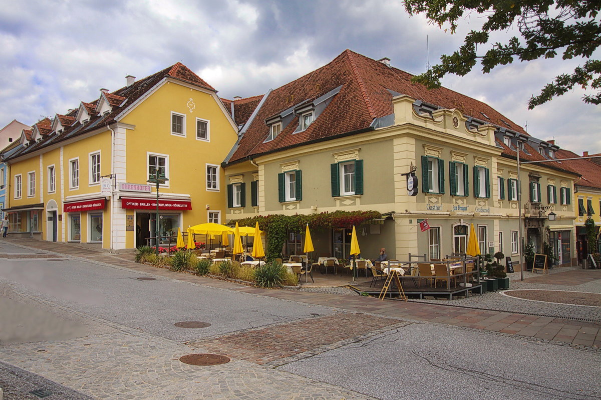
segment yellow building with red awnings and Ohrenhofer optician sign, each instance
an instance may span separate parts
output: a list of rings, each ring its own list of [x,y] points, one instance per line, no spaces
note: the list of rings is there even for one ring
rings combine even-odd
[[[10,166],[9,233],[123,251],[222,222],[221,162],[237,125],[216,90],[181,63],[23,131]],[[230,110],[231,109],[231,110]],[[198,238],[200,240],[200,238]],[[203,238],[204,239],[204,238]],[[169,239],[160,239],[167,246]],[[171,243],[172,242],[172,239]]]

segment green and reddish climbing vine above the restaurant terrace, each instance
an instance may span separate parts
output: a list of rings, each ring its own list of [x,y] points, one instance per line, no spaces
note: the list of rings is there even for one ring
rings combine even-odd
[[[338,210],[310,215],[257,215],[250,218],[232,219],[228,224],[235,225],[238,222],[240,226],[254,226],[258,221],[259,228],[267,235],[267,260],[273,260],[273,258],[281,257],[287,233],[304,233],[307,224],[311,230],[349,228],[352,225],[358,227],[377,218],[382,218],[382,214],[377,211]]]

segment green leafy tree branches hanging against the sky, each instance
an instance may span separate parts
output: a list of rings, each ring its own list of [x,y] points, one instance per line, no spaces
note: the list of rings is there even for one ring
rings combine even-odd
[[[429,89],[439,88],[442,77],[447,74],[465,76],[478,60],[483,73],[487,74],[498,65],[555,58],[561,54],[564,60],[582,57],[586,61],[571,73],[561,74],[545,85],[540,94],[530,98],[528,108],[540,106],[575,87],[592,89],[591,94],[584,96],[585,103],[601,103],[601,91],[598,90],[601,88],[601,61],[591,59],[601,44],[601,23],[597,19],[601,2],[404,0],[404,4],[410,15],[425,13],[430,22],[440,28],[448,24],[451,34],[456,32],[458,21],[467,19],[471,13],[480,14],[484,20],[480,30],[466,35],[459,50],[443,55],[440,64],[414,77],[414,83]],[[489,43],[491,32],[506,31],[511,26],[517,26],[520,38],[493,43],[484,55],[477,54],[478,44]]]

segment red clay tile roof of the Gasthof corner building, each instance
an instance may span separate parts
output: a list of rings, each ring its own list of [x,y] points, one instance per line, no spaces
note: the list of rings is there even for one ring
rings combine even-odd
[[[228,162],[367,130],[374,118],[392,114],[392,94],[388,90],[445,109],[459,109],[466,116],[526,134],[522,127],[489,105],[447,88],[429,91],[422,85],[411,83],[412,77],[397,68],[345,50],[329,64],[274,89]],[[292,134],[298,127],[298,118],[295,117],[274,140],[263,143],[269,134],[266,118],[301,102],[313,101],[341,85],[340,92],[307,130]],[[501,120],[507,121],[509,127]]]

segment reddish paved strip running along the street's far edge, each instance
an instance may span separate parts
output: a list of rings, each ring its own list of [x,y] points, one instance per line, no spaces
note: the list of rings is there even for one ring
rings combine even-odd
[[[207,287],[238,290],[261,296],[332,306],[352,312],[369,312],[406,321],[439,323],[461,329],[483,330],[498,335],[514,335],[520,338],[601,351],[601,323],[596,321],[588,322],[570,318],[544,317],[510,311],[487,311],[452,305],[433,305],[395,300],[381,301],[374,297],[348,296],[344,294],[270,290],[138,264],[133,261],[133,254],[107,254],[75,247],[67,243],[43,242],[32,239],[8,239],[8,241],[16,245],[82,257],[91,262],[102,262],[114,266],[127,267],[139,272],[188,281]]]

